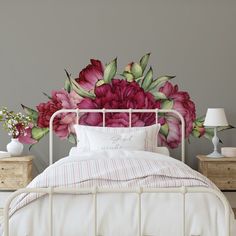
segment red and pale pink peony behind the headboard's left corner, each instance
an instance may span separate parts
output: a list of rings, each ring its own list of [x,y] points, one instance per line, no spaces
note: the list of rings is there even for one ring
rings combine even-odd
[[[81,97],[75,92],[69,94],[64,89],[52,91],[52,99],[37,106],[38,126],[40,128],[49,127],[50,118],[54,112],[60,109],[75,109],[80,101]],[[56,135],[60,138],[66,138],[71,132],[74,132],[73,124],[75,119],[76,115],[74,113],[62,113],[55,117],[53,129]]]

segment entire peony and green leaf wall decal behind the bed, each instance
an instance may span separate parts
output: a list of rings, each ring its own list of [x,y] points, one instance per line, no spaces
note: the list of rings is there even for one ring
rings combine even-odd
[[[64,88],[53,90],[46,95],[47,102],[40,103],[36,109],[22,105],[25,113],[31,117],[32,125],[27,135],[32,144],[38,142],[49,132],[49,120],[52,114],[60,109],[175,109],[185,120],[185,135],[210,138],[212,130],[203,127],[204,117],[196,118],[195,104],[188,92],[179,90],[172,80],[175,76],[163,75],[157,78],[152,67],[147,69],[150,53],[144,55],[139,62],[129,63],[122,73],[117,73],[117,59],[104,65],[99,60],[91,59],[76,78],[66,71]],[[54,132],[61,139],[75,143],[73,124],[75,114],[62,114],[54,120]],[[109,113],[106,115],[106,126],[128,126],[129,118],[125,113]],[[175,115],[160,114],[161,124],[159,144],[176,148],[181,142],[181,125]],[[147,126],[155,123],[154,114],[133,114],[132,126]],[[85,113],[80,124],[101,126],[102,114]],[[222,129],[232,128],[232,126]]]

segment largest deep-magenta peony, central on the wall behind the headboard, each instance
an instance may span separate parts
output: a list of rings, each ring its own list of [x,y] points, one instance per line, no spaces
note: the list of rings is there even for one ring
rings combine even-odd
[[[95,88],[95,99],[84,98],[81,109],[153,109],[159,108],[160,103],[153,95],[145,92],[138,83],[113,79],[111,84],[103,84]],[[81,116],[80,123],[84,125],[101,126],[102,114],[86,113]],[[132,126],[146,126],[155,123],[155,114],[132,114]],[[128,126],[129,115],[125,113],[106,113],[106,126]]]

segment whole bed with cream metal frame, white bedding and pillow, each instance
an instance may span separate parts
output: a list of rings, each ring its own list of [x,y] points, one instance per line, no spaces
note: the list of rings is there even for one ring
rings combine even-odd
[[[53,163],[53,119],[61,113],[101,113],[103,127],[77,124],[77,148]],[[105,127],[106,113],[129,115],[129,127]],[[156,125],[131,127],[132,114],[154,113]],[[181,160],[157,148],[158,114],[182,124]],[[115,131],[114,131],[115,130]],[[83,134],[83,135],[82,135]],[[184,120],[174,110],[60,110],[50,120],[50,166],[4,209],[4,236],[233,236],[236,223],[224,195],[184,164]],[[161,152],[160,152],[161,150]]]

